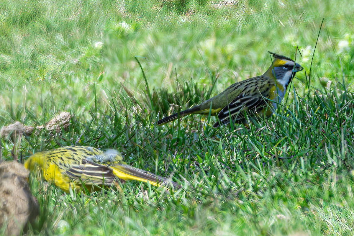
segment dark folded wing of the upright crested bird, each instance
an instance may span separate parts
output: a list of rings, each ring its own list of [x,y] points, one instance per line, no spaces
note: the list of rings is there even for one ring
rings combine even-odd
[[[261,94],[253,96],[238,96],[218,114],[219,121],[224,124],[230,122],[243,121],[245,114],[256,115],[267,105],[266,99]]]

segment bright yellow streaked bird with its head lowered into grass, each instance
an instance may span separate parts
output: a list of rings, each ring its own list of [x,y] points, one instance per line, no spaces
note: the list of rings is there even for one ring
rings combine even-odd
[[[125,180],[180,187],[164,177],[126,165],[116,150],[103,152],[89,146],[67,146],[37,152],[25,161],[24,167],[30,171],[39,170],[44,179],[65,192],[70,188],[80,190],[83,184],[93,191],[97,185],[112,186]]]

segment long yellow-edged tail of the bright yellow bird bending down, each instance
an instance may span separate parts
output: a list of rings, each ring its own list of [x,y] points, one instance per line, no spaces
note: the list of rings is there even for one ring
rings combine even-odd
[[[110,167],[113,169],[113,174],[120,179],[137,180],[145,183],[149,182],[151,185],[157,187],[161,185],[169,186],[170,184],[172,184],[173,188],[181,188],[181,185],[178,185],[176,182],[173,182],[172,180],[168,180],[159,175],[132,166],[128,166],[124,164],[115,164]]]

